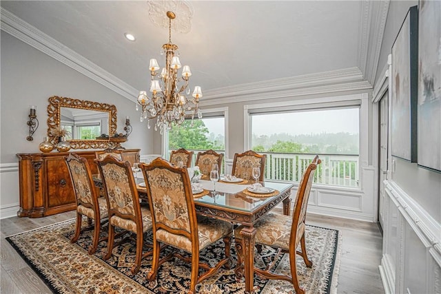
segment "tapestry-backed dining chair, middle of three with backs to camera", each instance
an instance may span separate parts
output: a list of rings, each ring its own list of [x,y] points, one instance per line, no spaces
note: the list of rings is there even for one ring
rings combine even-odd
[[[152,255],[147,251],[144,255],[143,233],[152,229],[152,214],[146,207],[141,207],[136,184],[130,167],[130,162],[116,160],[113,156],[106,156],[102,160],[95,159],[99,167],[105,197],[107,199],[109,215],[109,241],[104,260],[112,256],[114,247],[115,227],[136,234],[136,257],[132,266],[133,274],[141,267],[141,260]]]

